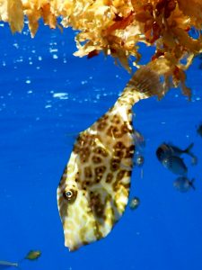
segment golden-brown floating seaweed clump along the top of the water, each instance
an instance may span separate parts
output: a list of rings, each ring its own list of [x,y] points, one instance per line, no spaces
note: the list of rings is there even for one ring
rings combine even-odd
[[[190,97],[185,70],[202,52],[201,0],[0,0],[0,20],[13,32],[22,31],[24,15],[32,37],[40,18],[52,29],[72,27],[79,31],[75,56],[92,58],[103,51],[128,71],[131,57],[139,67],[138,42],[155,46],[148,65],[164,76],[165,89],[180,85]]]

